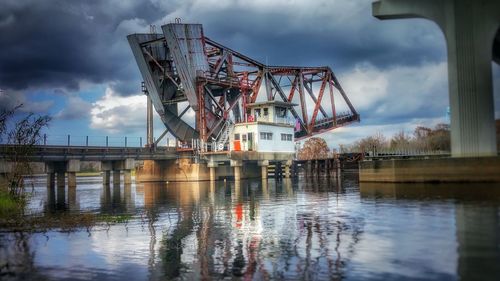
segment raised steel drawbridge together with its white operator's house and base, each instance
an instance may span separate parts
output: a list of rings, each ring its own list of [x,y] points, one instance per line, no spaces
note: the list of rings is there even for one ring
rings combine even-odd
[[[264,176],[269,162],[288,171],[295,155],[290,142],[360,120],[328,66],[266,65],[206,37],[201,24],[178,20],[127,38],[148,96],[148,145],[170,132],[199,152],[211,179],[240,178],[242,166]],[[156,141],[154,111],[166,127]],[[203,178],[203,163],[177,165]],[[165,171],[175,169],[167,166],[150,161],[145,174],[168,178]]]

